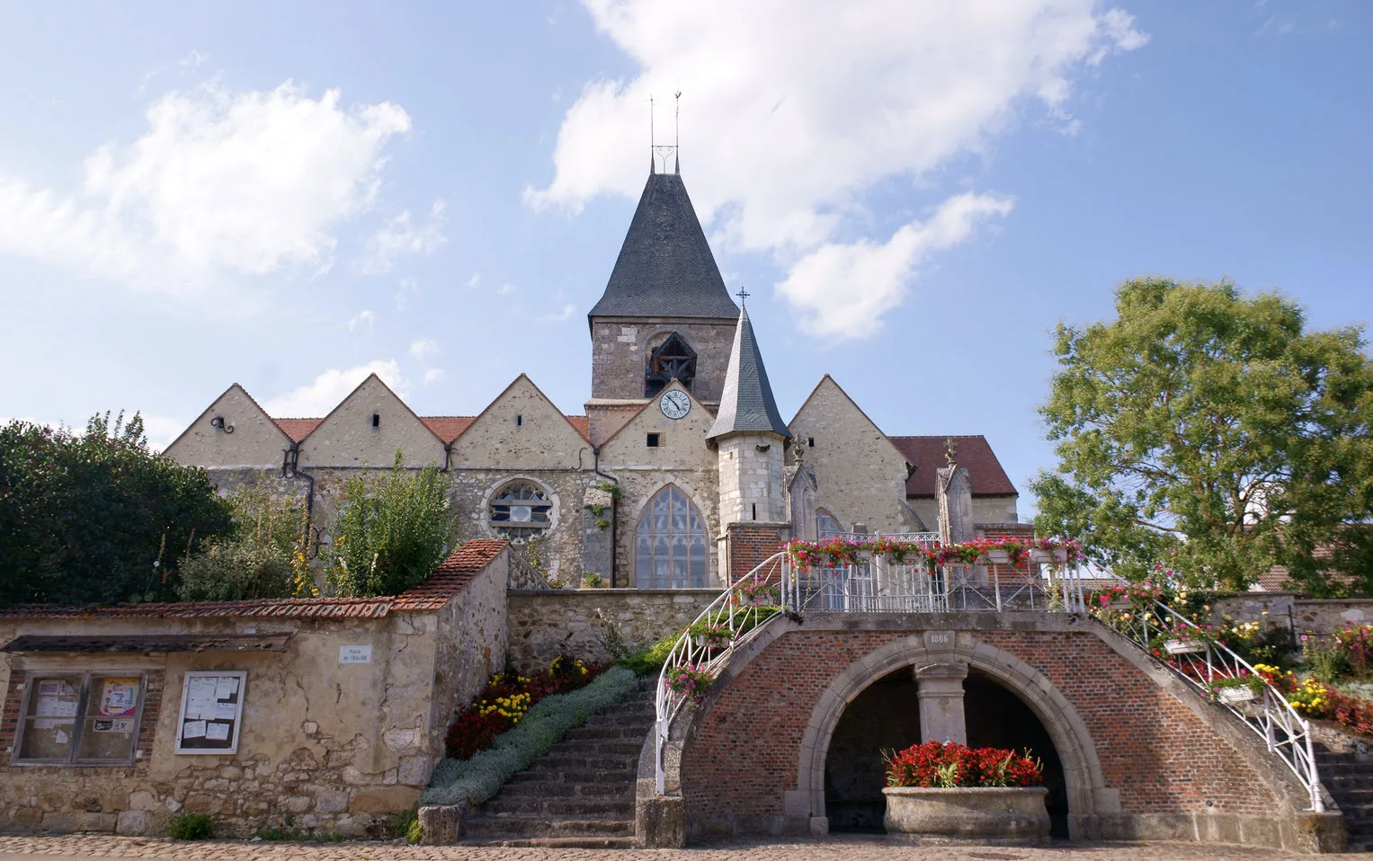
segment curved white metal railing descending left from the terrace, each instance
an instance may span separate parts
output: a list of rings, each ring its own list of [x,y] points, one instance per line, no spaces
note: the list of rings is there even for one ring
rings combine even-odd
[[[748,574],[719,593],[682,632],[658,674],[654,706],[654,770],[658,794],[663,794],[663,750],[673,720],[692,696],[673,689],[671,680],[682,670],[714,676],[743,639],[781,614],[780,584],[787,577],[787,552],[773,553]]]

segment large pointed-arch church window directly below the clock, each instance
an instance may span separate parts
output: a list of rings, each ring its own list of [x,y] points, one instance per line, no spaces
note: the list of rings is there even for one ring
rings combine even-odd
[[[706,585],[706,518],[674,485],[659,490],[634,527],[634,585],[686,589]]]

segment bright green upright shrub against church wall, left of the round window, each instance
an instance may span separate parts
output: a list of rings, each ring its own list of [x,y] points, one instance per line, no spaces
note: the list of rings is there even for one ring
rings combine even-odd
[[[448,482],[432,464],[416,475],[395,452],[391,474],[368,486],[349,479],[346,501],[334,519],[334,566],[327,571],[338,595],[398,595],[443,562],[457,519]]]

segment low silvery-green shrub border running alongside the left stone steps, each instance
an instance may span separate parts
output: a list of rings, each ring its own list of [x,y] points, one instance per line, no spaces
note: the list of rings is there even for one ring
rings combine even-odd
[[[534,704],[518,726],[468,759],[441,759],[434,766],[422,805],[479,805],[496,795],[515,773],[548,753],[549,746],[588,717],[612,706],[638,681],[626,667],[611,667],[585,688],[555,693]]]

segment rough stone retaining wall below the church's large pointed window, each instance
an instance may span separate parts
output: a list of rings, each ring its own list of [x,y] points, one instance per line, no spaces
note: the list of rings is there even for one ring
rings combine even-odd
[[[719,589],[515,590],[509,593],[511,663],[535,670],[563,652],[610,661],[600,619],[612,621],[630,648],[637,648],[685,630],[717,597]]]

